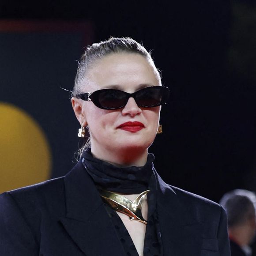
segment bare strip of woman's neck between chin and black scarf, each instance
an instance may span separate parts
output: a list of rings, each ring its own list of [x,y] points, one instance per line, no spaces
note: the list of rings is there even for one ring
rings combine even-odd
[[[95,150],[94,147],[91,147],[91,154],[95,158],[119,167],[144,166],[147,162],[147,150],[142,152],[136,150],[109,152],[107,150]]]

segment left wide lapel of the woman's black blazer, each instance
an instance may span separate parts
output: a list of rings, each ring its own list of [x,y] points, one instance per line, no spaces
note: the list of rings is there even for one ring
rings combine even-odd
[[[87,256],[120,256],[123,247],[98,190],[79,163],[65,177],[66,217],[60,222]],[[99,243],[100,241],[100,243]]]

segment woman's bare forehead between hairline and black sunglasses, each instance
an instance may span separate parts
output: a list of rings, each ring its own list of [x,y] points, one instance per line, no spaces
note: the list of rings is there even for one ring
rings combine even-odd
[[[160,85],[154,64],[136,53],[113,53],[95,61],[88,80],[92,91],[115,87],[132,92],[141,86]]]

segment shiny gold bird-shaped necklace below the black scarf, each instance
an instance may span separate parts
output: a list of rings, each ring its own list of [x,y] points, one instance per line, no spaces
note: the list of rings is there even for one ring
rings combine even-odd
[[[110,207],[116,211],[120,211],[121,213],[128,215],[130,220],[137,220],[144,224],[147,224],[147,221],[143,218],[141,209],[148,192],[150,192],[150,190],[140,193],[139,196],[137,196],[132,202],[125,196],[99,189],[100,196]]]

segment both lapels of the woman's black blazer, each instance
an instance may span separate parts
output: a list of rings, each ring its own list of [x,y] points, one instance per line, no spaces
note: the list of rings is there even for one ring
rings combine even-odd
[[[156,175],[157,211],[164,255],[200,255],[201,223],[196,221],[180,196]],[[66,231],[87,256],[121,256],[123,247],[105,211],[102,199],[79,161],[65,177]],[[99,246],[100,241],[100,246]]]

